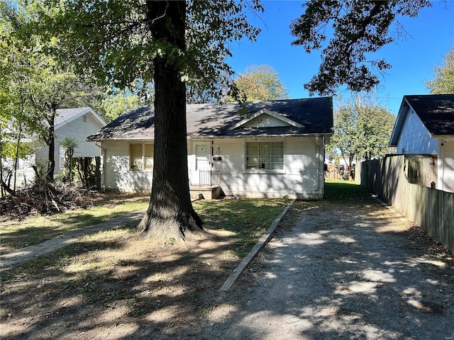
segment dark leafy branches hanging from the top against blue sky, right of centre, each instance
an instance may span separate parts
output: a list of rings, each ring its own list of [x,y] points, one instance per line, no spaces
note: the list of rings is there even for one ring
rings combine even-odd
[[[431,1],[306,1],[304,13],[290,26],[296,37],[292,45],[302,45],[308,53],[323,50],[319,72],[304,88],[321,95],[334,94],[344,84],[351,91],[373,89],[380,83],[377,72],[391,65],[370,54],[402,34],[399,16],[415,17],[426,6]]]

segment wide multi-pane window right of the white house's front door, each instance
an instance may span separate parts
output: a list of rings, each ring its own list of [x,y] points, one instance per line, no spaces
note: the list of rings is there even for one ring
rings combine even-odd
[[[246,142],[246,170],[284,171],[284,142]]]

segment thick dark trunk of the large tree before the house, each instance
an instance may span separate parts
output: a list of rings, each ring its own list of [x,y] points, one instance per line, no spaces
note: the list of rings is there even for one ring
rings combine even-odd
[[[184,51],[185,1],[147,1],[147,6],[150,30],[155,38]],[[153,188],[150,205],[139,227],[153,237],[184,239],[202,224],[189,196],[186,86],[181,73],[184,70],[166,55],[155,57],[154,67]]]

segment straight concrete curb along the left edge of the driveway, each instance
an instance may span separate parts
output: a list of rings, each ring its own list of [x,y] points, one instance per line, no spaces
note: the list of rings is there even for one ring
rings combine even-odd
[[[243,259],[243,261],[241,261],[240,264],[238,264],[238,266],[231,273],[231,276],[229,276],[227,278],[226,282],[224,282],[224,284],[222,285],[222,287],[219,288],[220,292],[228,291],[232,287],[233,283],[235,283],[236,279],[240,276],[240,274],[243,273],[243,271],[248,266],[250,261],[252,261],[255,258],[255,256],[257,256],[258,252],[268,242],[270,242],[270,239],[272,237],[272,233],[275,232],[275,229],[277,228],[277,225],[279,224],[280,220],[282,220],[282,217],[284,217],[284,215],[287,213],[287,211],[293,205],[293,203],[295,203],[295,200],[292,200],[292,202],[290,202],[287,205],[287,207],[285,207],[284,210],[282,210],[280,215],[275,218],[275,220],[272,222],[270,228],[267,230],[267,232],[262,237],[260,237],[260,239],[258,240],[257,244],[255,244],[253,249],[249,252],[248,256],[246,256]]]

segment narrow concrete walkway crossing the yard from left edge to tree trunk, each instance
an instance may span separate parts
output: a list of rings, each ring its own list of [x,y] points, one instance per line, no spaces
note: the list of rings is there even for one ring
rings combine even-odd
[[[77,242],[85,235],[96,234],[96,232],[101,232],[102,230],[117,229],[118,227],[121,227],[128,222],[142,217],[145,211],[146,210],[131,212],[127,215],[121,215],[106,222],[101,222],[97,225],[89,225],[87,227],[74,229],[70,232],[65,232],[65,234],[58,235],[53,239],[48,239],[43,243],[35,244],[33,246],[26,246],[25,248],[18,249],[9,254],[1,255],[0,271],[4,271],[5,269],[8,269],[13,265],[26,261],[28,259],[33,259],[34,257],[48,254],[61,248],[62,246],[66,246],[67,244]]]

